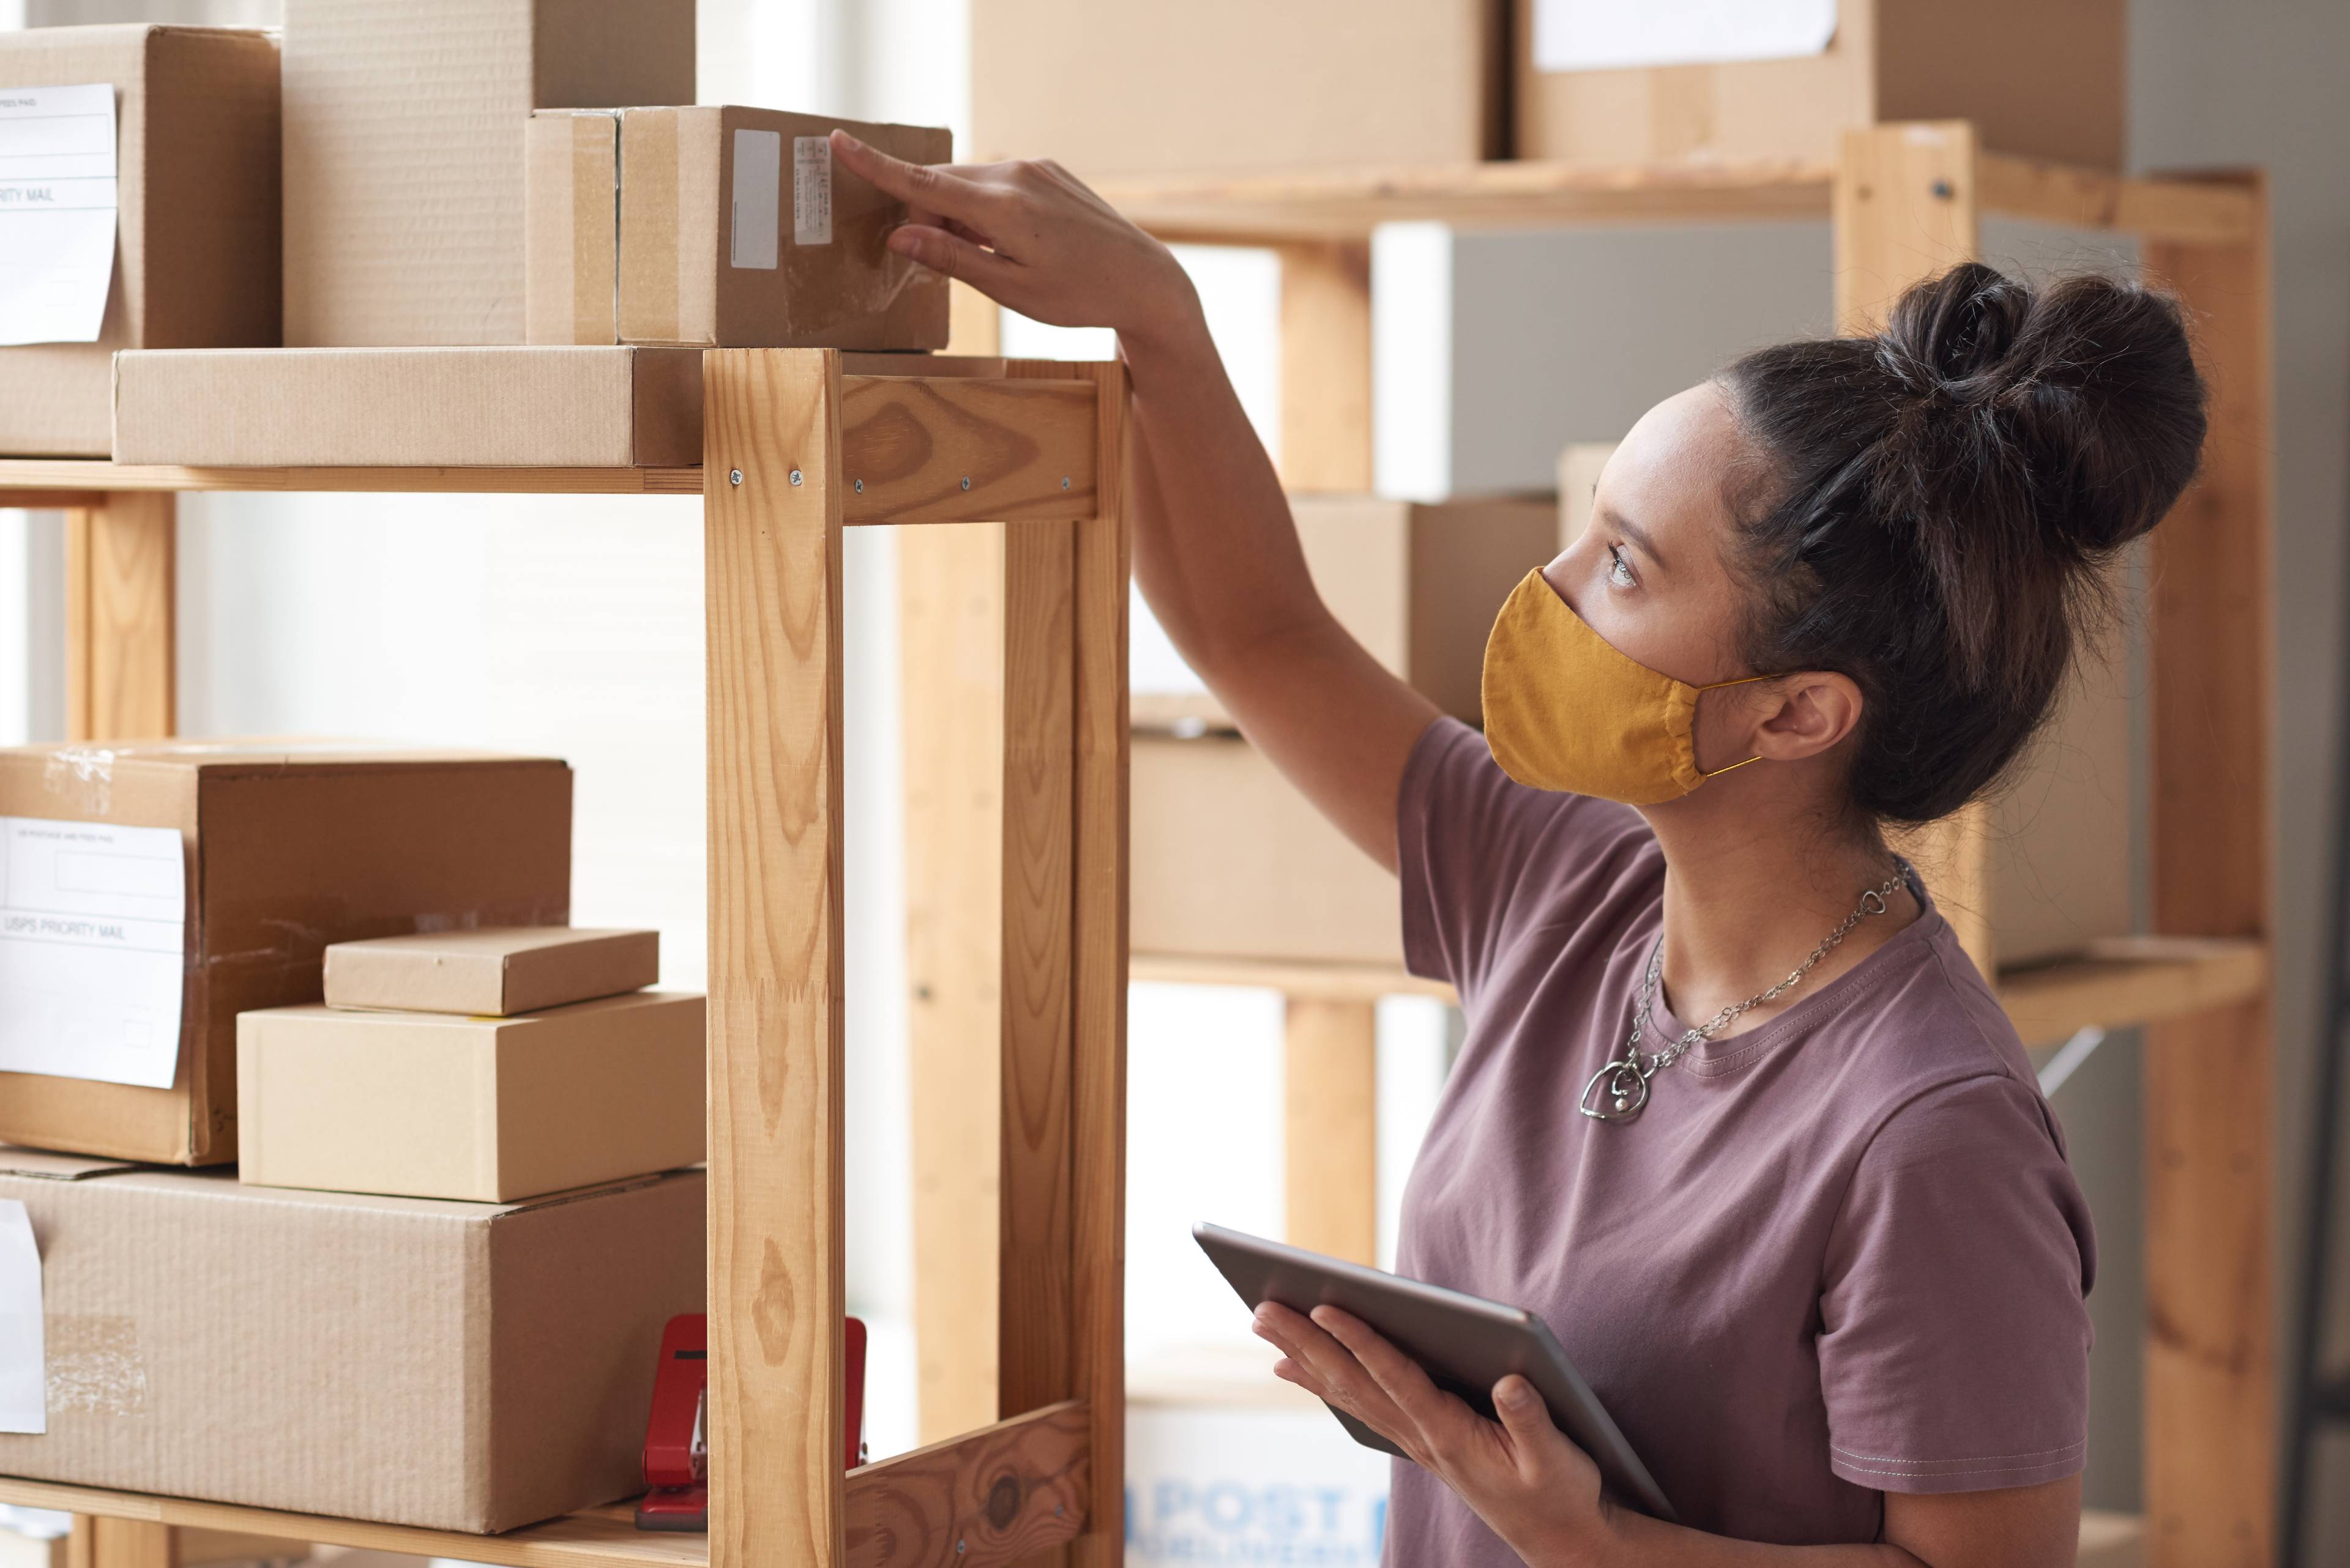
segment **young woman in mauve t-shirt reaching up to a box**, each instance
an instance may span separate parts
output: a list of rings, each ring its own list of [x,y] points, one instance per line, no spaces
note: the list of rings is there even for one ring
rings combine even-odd
[[[1161,244],[1053,165],[837,150],[912,205],[893,249],[1119,331],[1142,592],[1469,1018],[1398,1267],[1539,1312],[1680,1514],[1603,1497],[1523,1380],[1485,1420],[1267,1307],[1281,1375],[1412,1455],[1386,1561],[2070,1563],[2089,1215],[1880,830],[2000,780],[2195,473],[2178,310],[1960,266],[1664,400],[1502,607],[1478,733],[1323,609]]]

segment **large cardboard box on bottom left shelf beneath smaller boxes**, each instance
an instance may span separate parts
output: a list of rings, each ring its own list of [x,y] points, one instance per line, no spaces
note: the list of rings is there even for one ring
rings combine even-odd
[[[7,1152],[49,1429],[0,1472],[477,1533],[625,1497],[705,1187],[444,1204]]]

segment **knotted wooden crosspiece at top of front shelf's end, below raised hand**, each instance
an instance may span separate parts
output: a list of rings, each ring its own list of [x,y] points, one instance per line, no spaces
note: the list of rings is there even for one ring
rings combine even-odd
[[[1090,517],[1093,425],[1093,386],[1083,381],[851,376],[841,393],[844,517]]]

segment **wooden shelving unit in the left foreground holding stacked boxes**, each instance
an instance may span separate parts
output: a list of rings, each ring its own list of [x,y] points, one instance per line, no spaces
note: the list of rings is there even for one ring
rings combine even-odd
[[[1119,364],[712,350],[703,468],[193,470],[0,461],[68,508],[75,738],[169,733],[183,489],[700,494],[710,764],[710,1535],[590,1509],[454,1535],[0,1479],[89,1521],[87,1568],[242,1530],[519,1568],[985,1568],[1123,1552],[1126,374]],[[1001,1204],[992,1408],[844,1472],[841,529],[999,524],[1010,733],[987,832]],[[1010,520],[1010,522],[1006,522]],[[646,1359],[653,1345],[644,1347]],[[999,1420],[1001,1418],[1001,1420]]]

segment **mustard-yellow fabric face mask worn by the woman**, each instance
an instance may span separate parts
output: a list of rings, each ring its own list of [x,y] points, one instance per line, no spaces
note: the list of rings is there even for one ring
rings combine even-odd
[[[1765,679],[1692,686],[1619,654],[1528,571],[1485,639],[1485,743],[1502,771],[1537,790],[1596,795],[1626,806],[1680,799],[1697,771],[1697,693]]]

